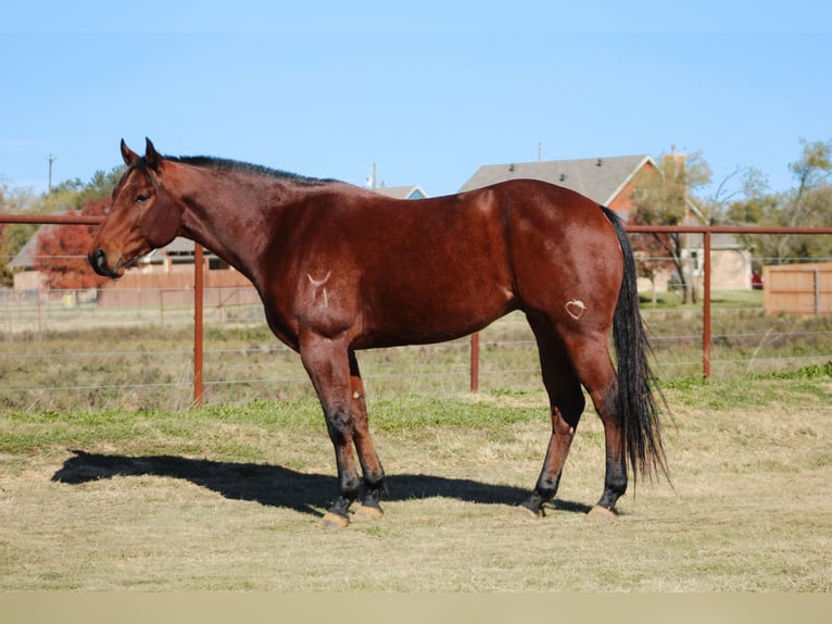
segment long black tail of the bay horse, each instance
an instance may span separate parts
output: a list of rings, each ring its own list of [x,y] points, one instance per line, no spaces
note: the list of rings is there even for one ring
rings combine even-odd
[[[602,209],[615,227],[625,263],[613,320],[618,358],[616,411],[623,434],[622,450],[630,462],[633,478],[639,472],[651,477],[659,470],[669,478],[656,400],[659,390],[650,367],[651,348],[639,309],[635,261],[621,220],[612,210]]]

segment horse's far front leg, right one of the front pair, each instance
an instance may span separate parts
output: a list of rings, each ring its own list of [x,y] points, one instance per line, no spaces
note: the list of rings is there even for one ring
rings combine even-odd
[[[353,514],[353,520],[378,520],[382,515],[379,501],[386,490],[385,470],[381,467],[381,461],[378,459],[369,434],[364,382],[362,382],[358,361],[353,351],[350,351],[350,385],[352,389],[351,411],[355,427],[355,449],[358,451],[358,461],[364,474],[364,497],[361,507]]]

